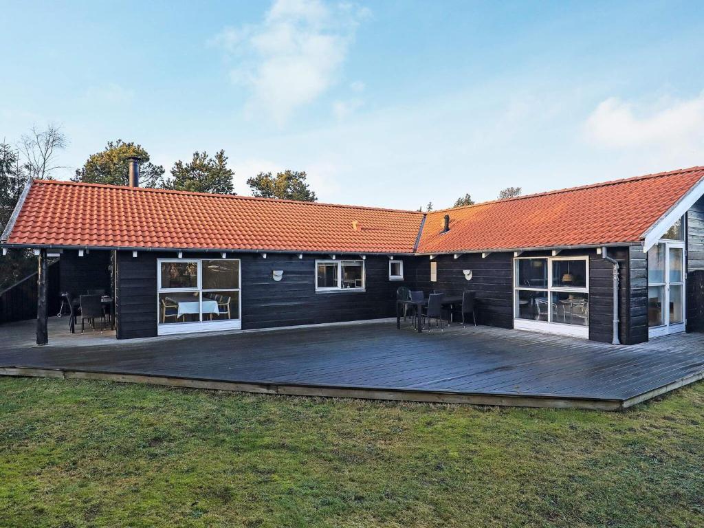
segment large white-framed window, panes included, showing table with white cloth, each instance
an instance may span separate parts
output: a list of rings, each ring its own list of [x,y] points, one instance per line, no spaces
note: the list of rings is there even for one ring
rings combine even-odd
[[[240,261],[160,258],[158,334],[241,328]]]

